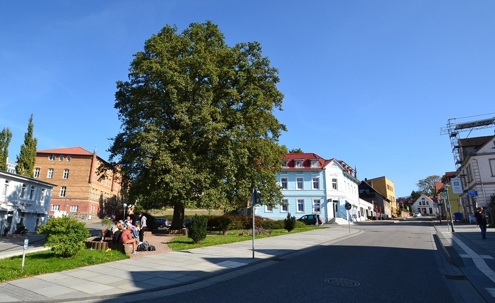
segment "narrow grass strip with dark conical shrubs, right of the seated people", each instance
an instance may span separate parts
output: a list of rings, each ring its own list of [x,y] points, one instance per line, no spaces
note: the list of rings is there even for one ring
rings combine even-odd
[[[272,230],[271,234],[261,235],[261,236],[257,235],[257,236],[255,236],[255,239],[287,235],[287,234],[304,232],[304,231],[309,231],[309,230],[318,229],[318,228],[329,228],[329,227],[305,226],[305,227],[301,227],[301,228],[296,228],[296,229],[292,230],[290,233],[287,232],[287,230],[285,230],[285,229],[275,229],[275,230]],[[242,232],[242,231],[241,230],[230,230],[228,235],[225,235],[225,236],[220,235],[220,234],[208,234],[205,240],[201,241],[200,243],[196,243],[196,244],[194,244],[192,242],[192,239],[188,238],[187,236],[177,236],[177,237],[173,237],[168,245],[173,250],[187,250],[187,249],[192,249],[192,248],[214,246],[214,245],[220,245],[220,244],[228,244],[228,243],[234,243],[234,242],[240,242],[240,241],[246,241],[246,240],[252,240],[253,239],[252,235],[238,235],[240,232]],[[244,232],[249,232],[249,231],[244,231]]]

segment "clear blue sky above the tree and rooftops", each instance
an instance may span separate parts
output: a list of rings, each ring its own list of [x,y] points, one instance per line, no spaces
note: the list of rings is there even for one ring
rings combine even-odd
[[[132,55],[166,24],[212,20],[279,69],[281,144],[386,176],[404,196],[455,170],[448,119],[495,116],[494,14],[491,1],[3,2],[0,129],[13,132],[11,160],[31,114],[38,149],[96,146],[108,159]]]

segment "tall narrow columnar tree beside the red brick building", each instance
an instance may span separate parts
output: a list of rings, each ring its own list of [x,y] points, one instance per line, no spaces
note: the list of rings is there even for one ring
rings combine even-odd
[[[33,137],[33,115],[29,118],[27,132],[24,134],[24,144],[21,145],[21,153],[17,156],[16,173],[26,177],[34,176],[34,163],[36,161],[36,145],[38,139]]]

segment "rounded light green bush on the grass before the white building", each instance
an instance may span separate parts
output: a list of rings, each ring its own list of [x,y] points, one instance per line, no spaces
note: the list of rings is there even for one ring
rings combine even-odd
[[[85,223],[68,216],[48,220],[41,225],[38,234],[46,237],[43,246],[52,247],[56,256],[67,258],[86,247],[85,241],[91,236]]]

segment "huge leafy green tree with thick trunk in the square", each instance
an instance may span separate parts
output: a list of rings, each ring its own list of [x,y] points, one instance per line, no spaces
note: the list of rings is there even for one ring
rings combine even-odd
[[[128,81],[117,82],[122,122],[110,162],[145,208],[245,207],[256,186],[265,204],[282,197],[275,180],[285,126],[275,118],[283,94],[278,70],[258,42],[232,47],[212,22],[181,33],[167,25],[134,55]]]

